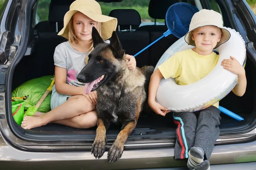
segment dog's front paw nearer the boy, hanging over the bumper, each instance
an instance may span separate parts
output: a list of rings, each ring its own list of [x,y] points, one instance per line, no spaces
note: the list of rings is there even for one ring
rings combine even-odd
[[[121,158],[123,150],[123,144],[120,144],[118,141],[115,141],[112,144],[110,150],[108,151],[108,161],[110,163],[117,161],[119,158]]]

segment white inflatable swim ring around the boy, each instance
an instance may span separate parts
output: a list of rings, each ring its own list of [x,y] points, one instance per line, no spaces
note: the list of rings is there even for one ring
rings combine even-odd
[[[160,105],[174,112],[199,111],[220,101],[235,87],[237,75],[225,70],[221,61],[233,56],[241,65],[245,65],[246,48],[238,32],[231,28],[226,29],[231,36],[227,42],[215,49],[220,55],[215,68],[203,79],[189,85],[177,85],[172,78],[161,79],[156,95],[156,101]],[[176,52],[189,48],[194,46],[187,45],[184,37],[181,37],[166,50],[155,69]]]

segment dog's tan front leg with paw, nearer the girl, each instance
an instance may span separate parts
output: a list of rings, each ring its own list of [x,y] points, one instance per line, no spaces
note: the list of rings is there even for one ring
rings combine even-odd
[[[106,129],[108,129],[110,123],[104,121],[102,118],[98,118],[98,127],[96,130],[96,137],[92,145],[91,152],[95,158],[100,159],[105,153],[105,144],[106,144]]]

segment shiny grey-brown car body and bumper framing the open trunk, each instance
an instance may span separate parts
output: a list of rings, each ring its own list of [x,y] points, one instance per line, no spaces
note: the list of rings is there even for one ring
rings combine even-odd
[[[23,5],[20,10],[23,11],[20,11],[20,14],[28,15],[25,11],[25,6],[28,2],[31,3],[29,0],[9,0],[8,3],[6,3],[6,8],[10,8],[12,3],[22,3]],[[230,0],[227,0],[227,4],[230,5],[230,10],[232,11],[231,14],[235,16],[234,22],[238,24],[241,20],[237,17],[235,8],[233,8]],[[3,16],[6,17],[7,14],[8,11],[5,11]],[[25,54],[27,51],[27,49],[19,51],[18,48],[19,44],[22,44],[22,37],[20,37],[23,31],[22,28],[26,28],[21,20],[22,16],[20,16],[20,23],[18,23],[15,28],[17,36],[15,37],[13,46],[16,48],[13,47],[14,51],[10,55],[10,58],[6,59],[6,65],[10,65],[10,63],[15,60],[15,55],[19,55],[18,52]],[[253,20],[255,21],[256,19],[253,18]],[[0,25],[0,37],[6,32],[6,25],[3,25],[4,21],[5,20],[2,20]],[[239,26],[234,26],[234,28],[236,28],[237,31],[242,32],[242,37],[249,43],[247,49],[252,51],[253,45],[247,40],[247,34],[244,33],[245,31],[242,31],[244,29],[243,26],[240,24]],[[10,96],[6,96],[3,92],[0,93],[0,96],[2,96],[3,99],[10,99]],[[110,164],[107,161],[107,151],[101,159],[95,159],[90,153],[90,144],[86,144],[85,142],[79,144],[72,144],[70,141],[69,143],[67,141],[45,141],[44,143],[39,143],[23,140],[20,138],[19,134],[15,135],[9,127],[10,121],[8,122],[7,120],[6,108],[10,110],[9,105],[5,100],[0,99],[0,169],[138,170],[143,168],[162,168],[159,170],[167,170],[166,167],[168,167],[168,170],[170,168],[171,170],[187,169],[186,161],[174,160],[173,145],[175,144],[175,141],[172,140],[163,141],[162,143],[148,143],[148,145],[153,145],[150,149],[141,149],[138,147],[140,146],[139,142],[126,142],[122,158],[113,164]],[[256,129],[253,128],[246,133],[241,133],[232,137],[230,137],[230,134],[228,133],[220,136],[216,141],[217,145],[214,147],[210,159],[211,169],[252,170],[253,167],[256,167],[255,134]],[[157,144],[162,144],[165,147],[154,148]],[[111,143],[108,143],[107,147],[110,145]],[[139,149],[129,149],[131,147],[138,147]],[[70,151],[67,151],[67,148],[69,148]]]

